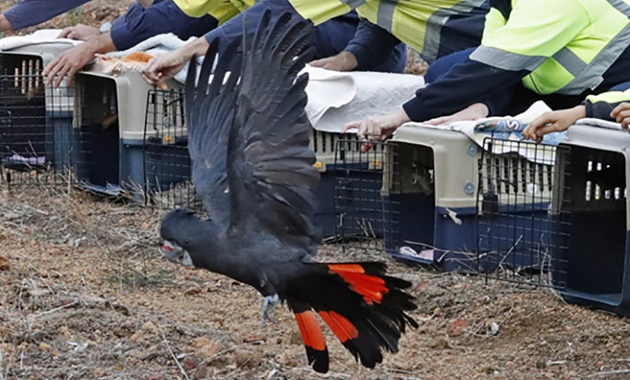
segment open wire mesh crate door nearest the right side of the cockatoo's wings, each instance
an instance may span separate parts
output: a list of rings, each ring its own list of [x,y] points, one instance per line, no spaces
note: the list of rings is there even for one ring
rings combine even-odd
[[[335,146],[335,216],[337,234],[346,244],[384,251],[384,212],[381,194],[387,143],[361,152],[356,138],[339,139]]]

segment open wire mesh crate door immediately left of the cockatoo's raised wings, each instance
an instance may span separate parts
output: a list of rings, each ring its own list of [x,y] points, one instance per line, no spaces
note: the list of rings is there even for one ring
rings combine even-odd
[[[143,160],[147,199],[154,205],[201,210],[191,182],[187,144],[183,89],[149,91]]]

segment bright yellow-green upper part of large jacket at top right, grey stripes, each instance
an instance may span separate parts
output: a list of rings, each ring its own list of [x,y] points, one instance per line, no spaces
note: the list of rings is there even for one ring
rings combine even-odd
[[[531,71],[523,85],[538,94],[595,89],[630,44],[630,0],[494,3],[482,46],[470,59],[501,70]]]

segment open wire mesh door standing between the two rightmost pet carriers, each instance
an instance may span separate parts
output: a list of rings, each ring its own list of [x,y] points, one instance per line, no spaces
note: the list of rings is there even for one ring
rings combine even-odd
[[[479,160],[478,266],[497,278],[549,284],[556,147],[486,138]]]

